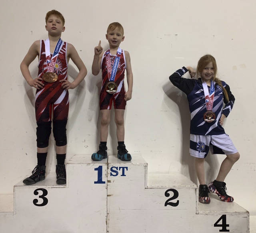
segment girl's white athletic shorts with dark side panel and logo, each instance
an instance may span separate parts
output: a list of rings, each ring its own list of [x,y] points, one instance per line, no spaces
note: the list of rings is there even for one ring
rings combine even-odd
[[[212,154],[235,154],[238,152],[228,134],[195,135],[190,134],[190,155],[205,158],[209,152]]]

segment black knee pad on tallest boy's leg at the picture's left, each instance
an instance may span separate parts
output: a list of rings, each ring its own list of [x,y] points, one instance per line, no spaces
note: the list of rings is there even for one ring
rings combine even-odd
[[[51,134],[51,124],[52,121],[38,121],[36,122],[36,142],[37,147],[44,148],[47,147],[49,144],[49,137]]]

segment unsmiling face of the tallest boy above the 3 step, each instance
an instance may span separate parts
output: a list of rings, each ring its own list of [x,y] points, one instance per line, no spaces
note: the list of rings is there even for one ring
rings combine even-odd
[[[48,34],[51,36],[60,36],[65,30],[64,24],[60,17],[54,14],[49,16],[45,28],[46,31],[48,31]]]

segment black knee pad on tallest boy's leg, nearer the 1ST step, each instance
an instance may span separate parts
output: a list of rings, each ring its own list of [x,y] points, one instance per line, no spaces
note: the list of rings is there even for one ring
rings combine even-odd
[[[67,144],[66,135],[67,120],[54,120],[53,121],[53,136],[56,141],[56,146],[65,146]]]

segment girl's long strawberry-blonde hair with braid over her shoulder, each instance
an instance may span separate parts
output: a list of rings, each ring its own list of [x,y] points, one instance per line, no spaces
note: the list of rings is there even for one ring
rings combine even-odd
[[[204,67],[206,67],[206,65],[208,65],[210,62],[212,62],[212,66],[214,68],[214,77],[212,80],[221,87],[226,100],[229,101],[228,93],[226,89],[223,87],[221,80],[217,77],[217,64],[215,58],[212,55],[206,54],[199,59],[196,68],[196,75],[198,77],[201,77],[201,73],[204,70]]]

